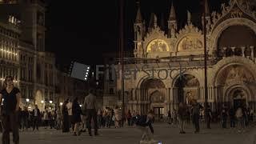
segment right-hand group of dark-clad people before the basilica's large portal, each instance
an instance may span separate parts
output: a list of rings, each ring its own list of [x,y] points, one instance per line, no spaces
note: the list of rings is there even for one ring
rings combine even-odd
[[[207,113],[205,112],[207,111]],[[245,130],[246,126],[254,122],[254,110],[248,106],[240,105],[236,108],[223,105],[220,110],[212,112],[210,106],[206,109],[199,104],[196,100],[191,103],[191,106],[186,106],[182,103],[179,104],[178,110],[168,112],[168,123],[170,125],[178,125],[180,128],[180,134],[185,134],[184,125],[194,124],[195,131],[198,133],[200,130],[199,124],[206,122],[206,127],[211,129],[210,124],[213,122],[219,122],[222,128],[228,128],[228,122],[230,128],[237,128],[238,132]]]

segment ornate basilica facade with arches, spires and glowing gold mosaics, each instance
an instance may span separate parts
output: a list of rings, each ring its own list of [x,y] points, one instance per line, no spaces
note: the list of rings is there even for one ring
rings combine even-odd
[[[208,102],[214,111],[223,104],[256,110],[256,11],[250,6],[246,0],[230,0],[218,13],[210,12],[206,2]],[[126,110],[167,114],[180,102],[205,102],[203,32],[192,24],[190,13],[186,26],[178,30],[177,25],[174,6],[167,31],[154,14],[146,28],[138,9],[134,58],[126,61],[124,71]],[[118,91],[121,86],[118,78]]]

